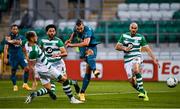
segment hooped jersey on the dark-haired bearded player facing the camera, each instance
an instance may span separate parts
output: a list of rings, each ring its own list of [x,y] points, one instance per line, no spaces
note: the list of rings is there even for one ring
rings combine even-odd
[[[52,57],[53,54],[60,53],[60,48],[64,47],[64,43],[61,39],[54,37],[53,40],[49,40],[44,38],[40,41],[40,46],[43,48],[43,51],[48,58],[49,62],[57,62],[61,59],[61,57]]]

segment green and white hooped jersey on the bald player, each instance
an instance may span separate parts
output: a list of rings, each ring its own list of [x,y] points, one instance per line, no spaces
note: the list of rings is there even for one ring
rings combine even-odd
[[[133,48],[128,52],[124,52],[125,63],[132,61],[135,57],[141,58],[141,47],[147,46],[147,42],[143,35],[136,33],[134,37],[131,37],[130,32],[122,34],[118,43],[127,45],[133,44]]]

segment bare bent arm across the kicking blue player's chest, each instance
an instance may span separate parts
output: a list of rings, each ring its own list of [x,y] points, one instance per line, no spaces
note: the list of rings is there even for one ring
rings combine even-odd
[[[67,47],[85,47],[89,45],[90,40],[91,40],[90,38],[85,38],[83,42],[81,43],[74,43],[74,44],[68,43],[66,46]]]

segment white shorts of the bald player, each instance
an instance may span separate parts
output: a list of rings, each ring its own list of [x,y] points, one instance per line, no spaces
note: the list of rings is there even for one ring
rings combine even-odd
[[[133,65],[134,64],[142,64],[143,60],[140,57],[135,57],[132,61],[124,64],[124,68],[126,70],[126,74],[128,79],[133,77]]]

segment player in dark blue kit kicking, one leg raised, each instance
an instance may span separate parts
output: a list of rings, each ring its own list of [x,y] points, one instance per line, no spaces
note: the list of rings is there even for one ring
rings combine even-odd
[[[80,40],[79,43],[71,43],[73,37],[77,35]],[[96,69],[96,55],[97,47],[99,44],[94,37],[92,28],[85,26],[83,21],[78,19],[74,28],[74,32],[71,34],[69,40],[65,42],[67,47],[79,47],[80,58],[84,59],[87,63],[86,74],[83,78],[83,85],[79,94],[80,100],[85,101],[85,91],[91,79],[91,73],[94,73],[95,77],[98,77],[100,72]]]

